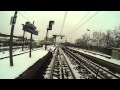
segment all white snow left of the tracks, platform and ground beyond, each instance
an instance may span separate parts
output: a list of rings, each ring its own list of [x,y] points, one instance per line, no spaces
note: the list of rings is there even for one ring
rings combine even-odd
[[[49,50],[53,51],[55,47],[48,46],[48,49],[45,51],[44,46],[42,48],[37,48],[32,51],[32,57],[29,58],[29,50],[26,49],[22,51],[17,49],[13,51],[13,55],[28,52],[22,55],[13,57],[14,66],[10,66],[10,59],[5,58],[0,60],[0,79],[15,79],[19,77],[23,72],[25,72],[29,67],[36,63],[39,59],[44,57]],[[0,58],[8,57],[9,51],[0,52]]]

